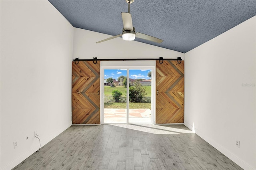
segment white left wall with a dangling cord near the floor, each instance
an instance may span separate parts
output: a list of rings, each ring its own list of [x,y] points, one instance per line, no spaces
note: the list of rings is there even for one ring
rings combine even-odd
[[[71,125],[73,32],[47,0],[1,1],[1,169]]]

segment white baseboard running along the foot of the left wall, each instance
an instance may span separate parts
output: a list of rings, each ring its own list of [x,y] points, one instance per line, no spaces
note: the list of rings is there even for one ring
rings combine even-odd
[[[52,134],[49,135],[48,138],[46,139],[41,139],[41,148],[47,144],[48,142],[50,142],[53,138],[55,138],[56,136],[58,136],[60,133],[62,133],[64,130],[66,130],[67,128],[69,128],[72,124],[71,123],[67,123],[65,127],[62,127],[60,130],[56,130],[55,132],[53,132]],[[8,164],[4,165],[3,168],[1,168],[1,170],[11,170],[12,168],[14,168],[15,166],[17,166],[18,164],[20,164],[23,160],[25,160],[26,158],[28,158],[29,156],[31,156],[32,154],[34,154],[34,152],[36,152],[36,150],[38,150],[38,146],[33,146],[30,149],[28,149],[27,152],[24,152],[23,154],[21,154],[20,156],[18,156],[18,158],[12,160],[11,162],[9,162]]]

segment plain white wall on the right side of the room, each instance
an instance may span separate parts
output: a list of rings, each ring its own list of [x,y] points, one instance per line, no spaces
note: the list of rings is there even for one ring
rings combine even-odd
[[[256,169],[256,16],[185,57],[184,125],[242,168]]]

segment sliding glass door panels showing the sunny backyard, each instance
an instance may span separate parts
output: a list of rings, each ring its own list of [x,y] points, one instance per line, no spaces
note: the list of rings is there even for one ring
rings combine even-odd
[[[152,123],[152,69],[106,67],[103,73],[102,123]]]

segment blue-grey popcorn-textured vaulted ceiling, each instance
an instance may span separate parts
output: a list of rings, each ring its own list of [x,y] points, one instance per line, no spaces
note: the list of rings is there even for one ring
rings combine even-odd
[[[49,1],[76,28],[122,34],[125,0]],[[186,53],[255,16],[256,0],[134,0],[130,13],[136,32],[164,40],[135,41]]]

